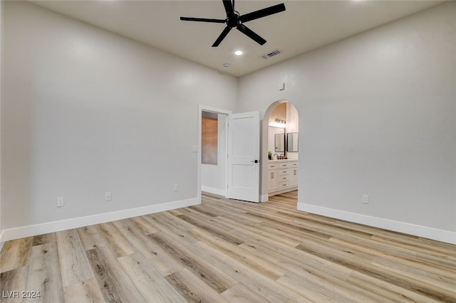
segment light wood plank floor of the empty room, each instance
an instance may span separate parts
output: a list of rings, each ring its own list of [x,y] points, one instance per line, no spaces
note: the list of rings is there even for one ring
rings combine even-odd
[[[456,302],[456,245],[299,212],[296,198],[204,194],[200,206],[10,241],[0,300]]]

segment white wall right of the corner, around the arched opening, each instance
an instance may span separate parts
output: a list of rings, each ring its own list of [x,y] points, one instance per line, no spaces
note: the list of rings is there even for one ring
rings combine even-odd
[[[301,210],[456,243],[455,20],[451,1],[239,79],[237,111],[299,112]]]

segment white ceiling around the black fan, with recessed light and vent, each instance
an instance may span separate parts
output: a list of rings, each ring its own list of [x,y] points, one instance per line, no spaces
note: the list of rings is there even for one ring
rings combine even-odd
[[[309,50],[403,18],[442,1],[276,1],[237,0],[239,14],[284,3],[286,11],[245,23],[266,39],[264,46],[232,30],[219,47],[212,43],[224,23],[180,21],[180,16],[226,18],[221,0],[32,1],[108,31],[234,76],[279,63]],[[259,58],[279,48],[283,53]],[[234,50],[244,55],[234,55]],[[229,68],[224,68],[229,63]]]

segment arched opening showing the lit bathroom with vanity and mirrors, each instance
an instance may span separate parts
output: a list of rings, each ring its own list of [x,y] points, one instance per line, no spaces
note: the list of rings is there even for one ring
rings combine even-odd
[[[272,103],[261,127],[261,201],[298,189],[299,115],[287,100]]]

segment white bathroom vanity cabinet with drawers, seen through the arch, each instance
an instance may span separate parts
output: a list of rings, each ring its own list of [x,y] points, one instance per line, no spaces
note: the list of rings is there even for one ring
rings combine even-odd
[[[298,189],[298,161],[270,160],[268,162],[269,196],[296,189]]]

